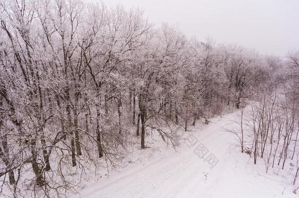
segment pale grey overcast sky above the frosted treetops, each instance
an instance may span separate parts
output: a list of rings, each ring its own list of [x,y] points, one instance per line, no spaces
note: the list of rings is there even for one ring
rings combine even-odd
[[[100,0],[85,0],[100,2]],[[299,49],[299,0],[102,0],[108,6],[140,7],[149,22],[178,23],[200,41],[240,44],[284,56]]]

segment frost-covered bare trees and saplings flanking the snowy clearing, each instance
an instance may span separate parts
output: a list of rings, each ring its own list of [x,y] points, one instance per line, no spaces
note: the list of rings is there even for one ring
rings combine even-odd
[[[178,128],[235,111],[238,151],[264,172],[291,164],[299,193],[299,51],[286,53],[188,38],[138,8],[0,0],[0,197],[68,197],[118,170],[132,139],[140,155],[152,135],[175,149]]]

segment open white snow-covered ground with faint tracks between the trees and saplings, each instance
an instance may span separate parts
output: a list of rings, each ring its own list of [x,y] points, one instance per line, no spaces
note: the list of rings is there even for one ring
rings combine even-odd
[[[209,125],[190,128],[176,152],[161,148],[155,137],[147,137],[149,148],[135,150],[127,160],[132,163],[86,186],[78,197],[298,198],[292,178],[282,176],[287,170],[266,174],[262,159],[254,165],[248,154],[240,153],[235,135],[225,131],[234,127],[231,120],[236,116],[231,113],[212,119]],[[207,152],[200,158],[203,151]]]

